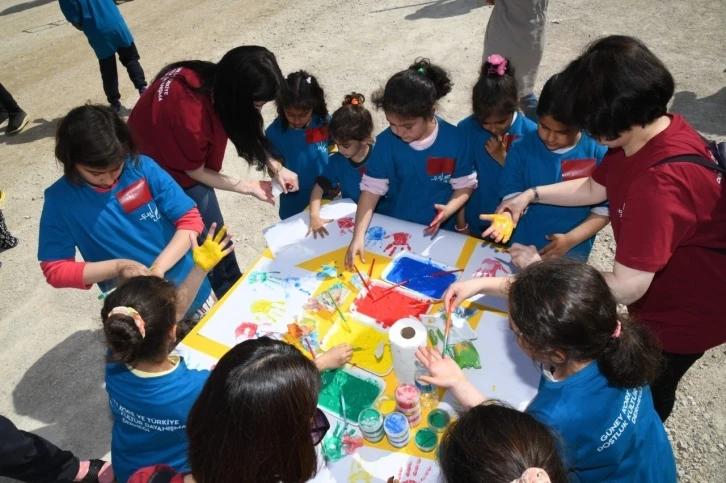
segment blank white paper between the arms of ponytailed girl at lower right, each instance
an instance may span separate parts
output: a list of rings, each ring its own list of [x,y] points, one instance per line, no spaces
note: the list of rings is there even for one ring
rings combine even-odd
[[[540,371],[514,340],[506,316],[485,311],[472,340],[479,352],[481,369],[464,373],[487,398],[498,399],[521,410],[537,393]],[[456,399],[447,392],[443,402],[460,410]]]

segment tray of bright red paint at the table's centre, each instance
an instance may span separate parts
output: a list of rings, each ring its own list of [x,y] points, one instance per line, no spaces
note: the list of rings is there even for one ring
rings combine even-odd
[[[420,304],[420,299],[398,290],[388,290],[380,285],[373,285],[371,289],[365,298],[356,300],[356,311],[376,319],[385,329],[400,319],[423,315],[429,309],[429,305]]]

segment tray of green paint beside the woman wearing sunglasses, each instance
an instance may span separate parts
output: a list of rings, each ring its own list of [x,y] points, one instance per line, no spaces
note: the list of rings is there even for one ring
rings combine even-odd
[[[354,422],[358,422],[360,413],[371,407],[381,392],[375,382],[340,370],[325,371],[320,377],[323,380],[323,389],[318,396],[318,405],[336,416],[343,417],[340,407],[342,393],[345,399],[345,415]]]

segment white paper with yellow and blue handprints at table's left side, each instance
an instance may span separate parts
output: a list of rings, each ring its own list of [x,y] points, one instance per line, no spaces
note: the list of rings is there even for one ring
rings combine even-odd
[[[284,334],[322,281],[315,273],[263,257],[199,333],[227,347],[260,333]]]

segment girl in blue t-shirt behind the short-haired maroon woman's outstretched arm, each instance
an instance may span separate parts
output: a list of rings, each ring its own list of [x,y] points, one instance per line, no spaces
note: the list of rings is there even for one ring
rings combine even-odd
[[[558,119],[552,101],[556,81],[557,75],[552,76],[542,89],[537,131],[525,134],[507,154],[499,182],[499,196],[503,199],[534,186],[586,178],[605,156],[606,147]],[[609,220],[607,203],[593,207],[535,204],[519,220],[510,240],[534,246],[544,257],[568,256],[586,261],[595,235]]]

